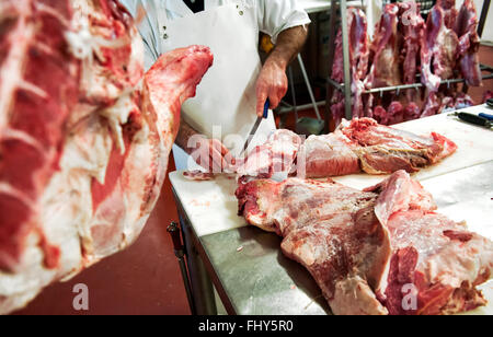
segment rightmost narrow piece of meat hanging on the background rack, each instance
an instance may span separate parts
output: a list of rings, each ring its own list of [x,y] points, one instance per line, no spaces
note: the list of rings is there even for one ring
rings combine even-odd
[[[459,37],[458,57],[460,70],[468,85],[482,84],[479,62],[480,37],[478,35],[478,13],[472,0],[466,0],[460,8],[455,31]]]

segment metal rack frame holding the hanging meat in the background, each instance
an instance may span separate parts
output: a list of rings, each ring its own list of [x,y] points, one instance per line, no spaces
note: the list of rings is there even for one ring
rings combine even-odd
[[[349,46],[347,45],[348,39],[348,28],[347,28],[347,16],[343,15],[343,13],[347,12],[347,2],[346,0],[331,0],[331,19],[330,19],[330,26],[331,26],[331,36],[330,36],[330,46],[335,45],[335,37],[337,32],[337,19],[341,19],[341,30],[342,30],[342,39],[343,39],[343,63],[344,63],[344,83],[337,83],[336,81],[332,80],[332,66],[329,69],[329,77],[328,77],[328,89],[326,89],[326,105],[325,105],[325,120],[330,121],[331,118],[331,105],[330,100],[333,96],[334,90],[339,90],[344,93],[344,107],[345,107],[345,118],[352,119],[352,92],[351,92],[351,69],[349,69]],[[388,1],[388,2],[395,2],[395,1]],[[483,9],[481,11],[481,18],[478,25],[478,34],[481,36],[485,23],[485,18],[488,14],[488,10],[490,8],[491,0],[485,0],[483,3]],[[329,53],[329,65],[333,65],[334,62],[334,54],[335,48],[331,48]],[[480,65],[481,71],[488,71],[489,74],[483,75],[483,80],[490,80],[493,79],[493,67],[486,66],[486,65]],[[403,84],[403,85],[395,85],[395,86],[385,86],[385,88],[375,88],[370,90],[366,90],[363,92],[363,94],[371,94],[371,93],[380,93],[380,95],[383,94],[383,92],[390,92],[395,91],[398,94],[400,91],[409,90],[409,89],[415,89],[420,90],[420,88],[423,88],[424,85],[421,83],[421,81],[417,81],[420,79],[420,74],[416,75],[416,83],[413,84]],[[456,84],[456,83],[465,83],[465,79],[449,79],[449,80],[443,80],[442,84]],[[463,84],[463,91],[466,92],[468,90],[466,83]],[[325,123],[325,131],[330,131],[329,123]]]

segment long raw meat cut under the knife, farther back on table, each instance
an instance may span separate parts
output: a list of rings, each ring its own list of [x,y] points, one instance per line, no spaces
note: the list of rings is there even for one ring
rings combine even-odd
[[[400,108],[400,103],[395,109]],[[237,160],[241,182],[270,178],[287,172],[298,177],[326,177],[358,173],[410,173],[451,155],[457,146],[432,133],[426,137],[377,124],[371,118],[344,120],[330,135],[310,136],[305,142],[288,130],[277,130],[265,146],[257,147],[244,161]]]

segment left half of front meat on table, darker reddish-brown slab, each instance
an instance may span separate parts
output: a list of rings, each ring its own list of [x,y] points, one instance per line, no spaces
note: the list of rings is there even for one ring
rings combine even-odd
[[[387,314],[371,289],[389,255],[377,195],[332,181],[240,185],[240,214],[284,237],[283,253],[312,275],[335,314]]]

